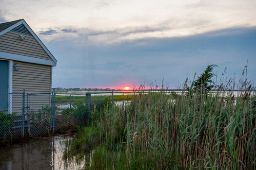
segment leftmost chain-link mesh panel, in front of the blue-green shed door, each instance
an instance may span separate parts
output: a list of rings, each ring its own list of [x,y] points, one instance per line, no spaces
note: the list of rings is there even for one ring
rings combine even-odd
[[[22,119],[22,93],[0,94],[0,141],[8,142],[21,138],[22,127],[27,126]],[[22,122],[24,124],[22,124]]]

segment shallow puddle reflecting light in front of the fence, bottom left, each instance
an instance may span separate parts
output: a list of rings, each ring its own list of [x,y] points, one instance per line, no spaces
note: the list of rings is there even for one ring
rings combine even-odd
[[[70,139],[70,136],[47,137],[0,148],[0,170],[80,170],[90,166],[92,153],[86,153],[79,164],[62,159],[65,141]]]

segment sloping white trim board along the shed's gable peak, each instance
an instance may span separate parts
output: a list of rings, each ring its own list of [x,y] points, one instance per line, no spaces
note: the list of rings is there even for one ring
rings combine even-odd
[[[26,23],[26,21],[24,19],[20,20],[19,22],[17,22],[16,24],[13,24],[12,26],[6,28],[5,30],[0,32],[0,36],[2,34],[5,34],[9,31],[11,31],[12,29],[18,27],[20,24],[23,24],[28,31],[32,34],[32,36],[38,41],[38,43],[40,44],[40,46],[43,48],[43,50],[45,50],[45,52],[51,57],[51,59],[53,60],[53,62],[55,63],[55,66],[57,64],[57,60],[56,58],[53,56],[53,54],[45,47],[45,45],[42,43],[42,41],[39,39],[39,37],[34,33],[34,31],[29,27],[29,25]]]

